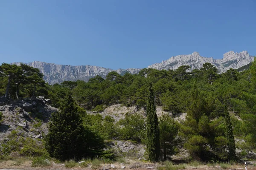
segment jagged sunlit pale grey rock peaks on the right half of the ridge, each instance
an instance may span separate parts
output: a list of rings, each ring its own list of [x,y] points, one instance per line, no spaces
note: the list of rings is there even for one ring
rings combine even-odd
[[[253,56],[250,56],[247,51],[242,51],[240,53],[229,51],[223,55],[223,59],[201,57],[198,52],[193,52],[189,55],[178,55],[171,57],[170,59],[167,59],[163,62],[150,65],[148,68],[155,68],[158,70],[175,70],[182,65],[189,65],[191,66],[191,69],[199,69],[205,62],[209,62],[215,65],[220,73],[223,73],[230,68],[237,69],[247,65],[252,62],[253,59]]]

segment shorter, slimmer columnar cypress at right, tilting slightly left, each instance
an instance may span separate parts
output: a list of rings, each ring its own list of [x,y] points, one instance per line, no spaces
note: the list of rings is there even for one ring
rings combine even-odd
[[[230,122],[230,115],[227,110],[227,106],[225,107],[224,110],[224,115],[225,115],[225,122],[226,122],[226,137],[227,137],[227,147],[229,150],[229,159],[236,161],[236,145],[235,145],[235,139],[233,135],[233,129],[232,129],[232,124]]]

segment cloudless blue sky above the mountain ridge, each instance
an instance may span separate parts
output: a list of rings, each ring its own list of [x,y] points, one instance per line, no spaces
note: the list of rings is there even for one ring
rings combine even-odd
[[[0,63],[145,68],[256,55],[256,0],[0,0]]]

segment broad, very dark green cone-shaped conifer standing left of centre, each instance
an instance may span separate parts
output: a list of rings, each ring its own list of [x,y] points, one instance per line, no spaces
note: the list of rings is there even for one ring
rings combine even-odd
[[[60,112],[52,113],[46,149],[51,157],[61,161],[81,159],[101,150],[103,140],[82,125],[78,107],[71,94],[65,97]]]

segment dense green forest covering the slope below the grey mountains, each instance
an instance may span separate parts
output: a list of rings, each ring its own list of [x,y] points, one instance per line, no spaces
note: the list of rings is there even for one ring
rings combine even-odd
[[[172,113],[158,117],[160,159],[170,159],[184,148],[191,159],[237,161],[241,155],[236,155],[236,147],[243,150],[243,156],[256,150],[256,61],[250,69],[239,71],[230,68],[218,74],[212,64],[205,63],[194,70],[188,65],[168,71],[144,68],[139,74],[121,76],[110,72],[106,79],[96,76],[88,82],[77,80],[49,85],[36,68],[3,63],[0,95],[10,100],[46,96],[52,100],[53,107],[60,108],[60,113],[52,115],[45,138],[50,156],[60,160],[73,156],[79,159],[86,156],[84,153],[113,159],[114,153],[103,150],[106,140],[122,139],[148,145],[146,129],[149,126],[145,116],[150,113],[148,107],[151,111],[155,109],[154,104],[148,104],[151,101]],[[126,114],[125,119],[115,122],[111,116],[97,114],[113,104],[136,105],[138,110],[147,110],[148,115]],[[86,110],[93,114],[87,114]],[[174,118],[180,113],[187,113],[186,119],[177,122]],[[64,126],[64,120],[58,121],[64,116],[76,121],[67,121],[67,127],[56,137],[56,129],[60,129],[57,126]],[[68,127],[68,123],[72,126]],[[55,146],[57,138],[67,133],[65,129],[72,135],[79,134],[78,147],[83,143],[87,145],[79,152],[74,146],[71,155],[65,155],[66,146]]]

